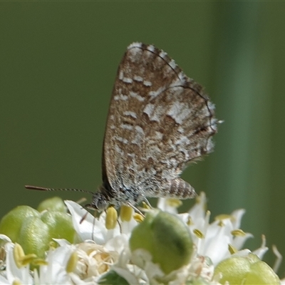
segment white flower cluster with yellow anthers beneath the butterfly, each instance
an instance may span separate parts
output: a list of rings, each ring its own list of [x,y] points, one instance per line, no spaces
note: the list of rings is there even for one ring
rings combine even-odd
[[[209,284],[219,284],[219,278],[214,277],[214,266],[232,254],[244,256],[250,252],[242,246],[252,234],[239,229],[244,210],[217,217],[209,223],[210,214],[204,210],[204,193],[199,195],[189,212],[182,214],[177,213],[177,201],[160,199],[158,202],[159,209],[175,214],[185,222],[195,244],[190,263],[168,276],[152,263],[147,252],[133,254],[130,251],[130,235],[138,224],[134,217],[128,222],[119,217],[115,227],[107,229],[105,212],[94,218],[75,202],[66,201],[66,205],[78,234],[78,244],[55,239],[59,246],[46,253],[38,270],[31,271],[29,263],[17,266],[19,257],[15,249],[19,244],[0,235],[1,248],[6,252],[6,260],[2,266],[0,264],[0,284],[107,284],[103,283],[103,278],[110,271],[125,279],[125,284],[161,284],[161,280],[168,280],[170,285],[185,284],[187,280],[199,277]],[[262,244],[254,254],[262,258],[266,250]]]

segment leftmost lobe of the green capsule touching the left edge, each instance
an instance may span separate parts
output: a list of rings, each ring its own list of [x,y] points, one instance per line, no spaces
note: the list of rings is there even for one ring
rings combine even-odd
[[[0,234],[6,234],[12,242],[17,242],[23,222],[28,217],[39,217],[39,212],[28,206],[18,206],[6,214],[0,222]]]

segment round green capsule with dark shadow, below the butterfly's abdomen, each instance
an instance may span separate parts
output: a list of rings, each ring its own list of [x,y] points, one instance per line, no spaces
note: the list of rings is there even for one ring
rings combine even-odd
[[[169,274],[189,263],[193,243],[189,230],[178,217],[152,211],[133,229],[130,249],[147,250],[152,255],[152,261],[160,264],[162,271]]]

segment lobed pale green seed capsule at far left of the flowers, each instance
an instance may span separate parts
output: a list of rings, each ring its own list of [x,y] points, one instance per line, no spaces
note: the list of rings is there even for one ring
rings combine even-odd
[[[36,254],[38,258],[45,257],[53,238],[67,239],[72,243],[75,233],[71,216],[66,212],[45,211],[40,214],[28,206],[12,209],[0,222],[0,234],[6,234],[12,242],[21,244],[25,254]]]

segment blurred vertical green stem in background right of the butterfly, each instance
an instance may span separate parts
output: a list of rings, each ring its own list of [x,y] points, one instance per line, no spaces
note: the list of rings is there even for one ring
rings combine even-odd
[[[270,43],[261,41],[259,2],[219,3],[217,9],[224,17],[218,19],[220,33],[214,38],[214,93],[224,124],[217,138],[220,155],[211,165],[219,188],[209,193],[211,207],[216,213],[221,204],[227,212],[246,208],[246,229],[259,235],[268,215],[263,206],[269,189]]]

